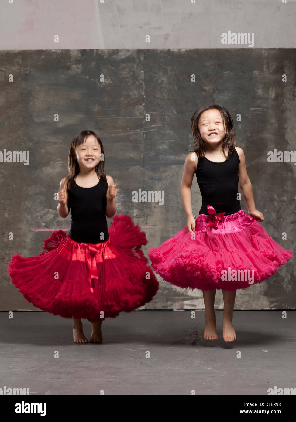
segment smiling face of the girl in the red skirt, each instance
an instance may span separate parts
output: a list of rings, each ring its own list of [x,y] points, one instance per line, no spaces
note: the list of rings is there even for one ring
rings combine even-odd
[[[100,162],[100,144],[93,135],[75,149],[76,160],[79,168],[94,168]]]

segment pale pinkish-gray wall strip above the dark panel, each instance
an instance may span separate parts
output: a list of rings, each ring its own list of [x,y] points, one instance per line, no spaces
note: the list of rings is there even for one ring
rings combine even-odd
[[[0,5],[0,49],[228,48],[221,43],[228,31],[253,33],[255,48],[293,48],[296,3],[283,2],[7,0]]]

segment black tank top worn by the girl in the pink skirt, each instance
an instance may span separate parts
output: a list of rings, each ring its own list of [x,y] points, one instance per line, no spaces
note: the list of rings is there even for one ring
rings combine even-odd
[[[211,205],[217,214],[234,214],[241,209],[240,201],[236,199],[239,191],[239,154],[234,149],[228,153],[228,160],[214,162],[206,157],[198,157],[196,179],[201,191],[202,203],[199,214],[209,215],[206,207]]]

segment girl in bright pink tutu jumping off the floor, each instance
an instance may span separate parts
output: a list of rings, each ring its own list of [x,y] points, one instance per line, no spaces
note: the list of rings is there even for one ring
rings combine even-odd
[[[173,238],[149,249],[148,256],[164,280],[203,291],[204,338],[208,340],[218,338],[214,304],[216,289],[222,289],[223,338],[233,341],[236,290],[268,279],[293,252],[275,242],[258,223],[264,218],[255,207],[244,152],[235,146],[229,111],[217,105],[201,108],[191,117],[191,129],[195,149],[185,160],[181,184],[187,225]],[[194,173],[202,196],[196,219],[191,205]],[[249,215],[241,209],[238,186]]]

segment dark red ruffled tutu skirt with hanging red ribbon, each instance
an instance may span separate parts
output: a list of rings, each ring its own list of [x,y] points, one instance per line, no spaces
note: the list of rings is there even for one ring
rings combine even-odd
[[[146,234],[130,216],[114,216],[103,243],[79,243],[63,230],[44,240],[36,257],[13,255],[12,283],[38,308],[64,318],[97,322],[150,302],[159,283],[141,245]]]

